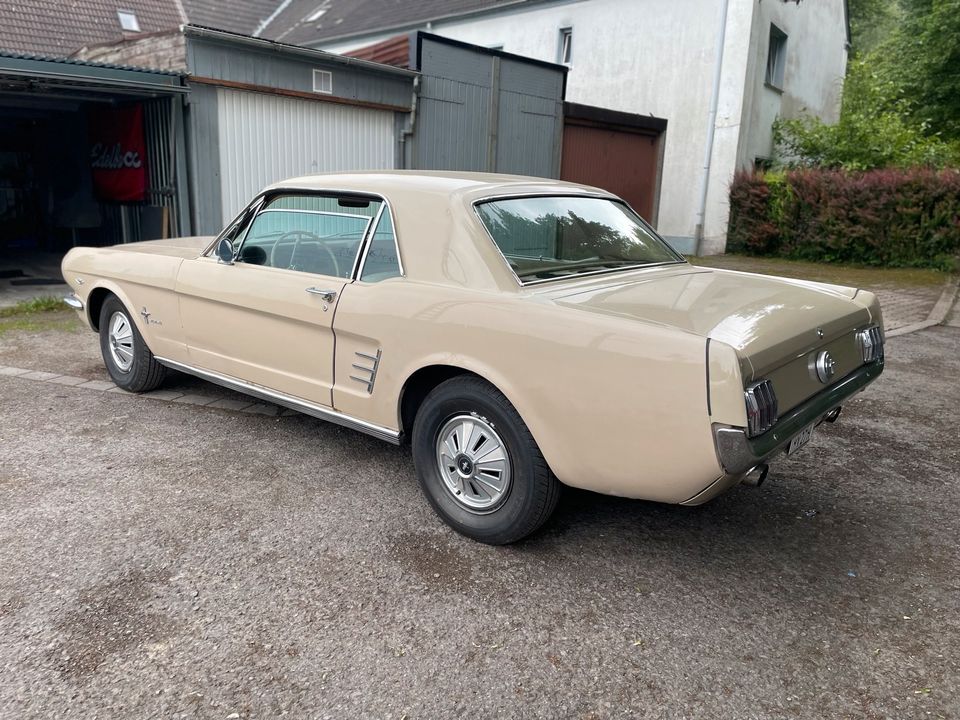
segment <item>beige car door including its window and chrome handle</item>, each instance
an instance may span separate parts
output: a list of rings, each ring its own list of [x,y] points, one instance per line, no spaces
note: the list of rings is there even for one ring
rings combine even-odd
[[[191,364],[332,406],[333,317],[380,204],[274,194],[227,231],[232,263],[215,252],[185,261],[177,293]]]

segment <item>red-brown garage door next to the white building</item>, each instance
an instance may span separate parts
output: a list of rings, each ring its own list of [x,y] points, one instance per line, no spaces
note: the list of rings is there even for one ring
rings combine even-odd
[[[662,137],[653,128],[603,127],[568,114],[560,178],[609,190],[656,224]]]

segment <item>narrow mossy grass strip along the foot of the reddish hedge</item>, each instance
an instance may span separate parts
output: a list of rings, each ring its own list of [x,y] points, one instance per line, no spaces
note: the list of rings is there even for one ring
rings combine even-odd
[[[878,268],[747,255],[709,255],[688,257],[687,260],[694,265],[705,267],[742,270],[761,275],[779,275],[862,288],[940,287],[949,276],[949,273],[940,270],[923,268]]]

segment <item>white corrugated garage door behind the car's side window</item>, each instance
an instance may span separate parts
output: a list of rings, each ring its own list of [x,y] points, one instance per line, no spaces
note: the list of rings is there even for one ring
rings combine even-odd
[[[278,180],[394,166],[391,111],[220,88],[217,115],[224,223]]]

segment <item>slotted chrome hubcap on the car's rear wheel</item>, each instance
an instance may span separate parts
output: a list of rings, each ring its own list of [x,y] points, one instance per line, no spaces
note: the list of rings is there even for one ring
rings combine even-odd
[[[510,489],[506,445],[477,415],[457,415],[440,428],[437,465],[447,492],[474,512],[495,509]]]

